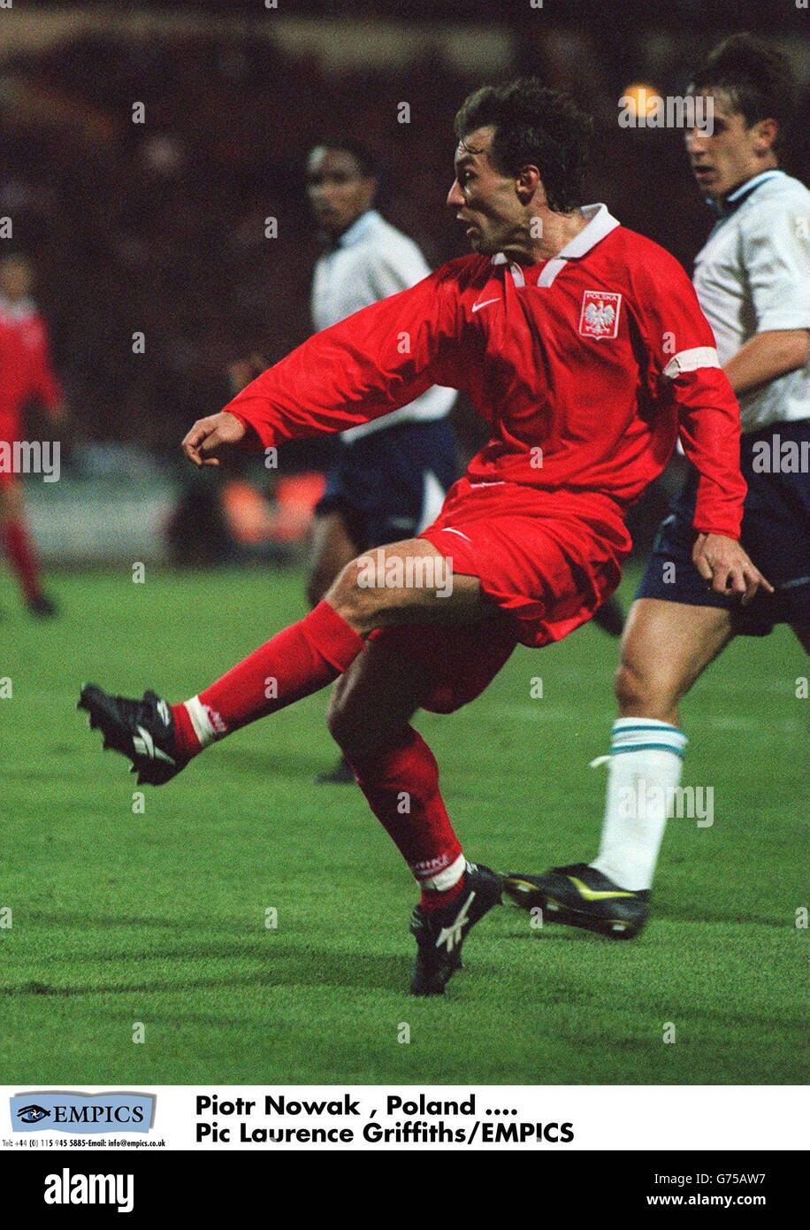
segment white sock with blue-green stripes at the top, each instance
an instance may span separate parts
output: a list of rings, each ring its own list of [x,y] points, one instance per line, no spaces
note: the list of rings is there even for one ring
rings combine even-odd
[[[613,723],[602,839],[590,866],[621,888],[653,883],[687,742],[677,726],[650,717]]]

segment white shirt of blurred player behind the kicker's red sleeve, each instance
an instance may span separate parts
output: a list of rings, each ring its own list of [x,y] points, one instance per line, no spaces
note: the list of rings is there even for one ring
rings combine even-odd
[[[312,322],[321,332],[345,320],[361,308],[407,290],[430,273],[424,256],[407,235],[387,223],[376,209],[368,209],[340,235],[334,248],[324,252],[312,278]],[[350,427],[340,439],[350,443],[371,432],[383,432],[397,423],[424,423],[444,418],[456,400],[455,389],[434,385],[415,401],[391,415]]]

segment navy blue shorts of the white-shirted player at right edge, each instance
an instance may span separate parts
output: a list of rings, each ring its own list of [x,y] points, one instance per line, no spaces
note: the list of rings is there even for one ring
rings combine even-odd
[[[670,504],[669,517],[661,522],[635,597],[725,608],[734,613],[735,631],[742,636],[767,636],[776,624],[810,625],[809,453],[810,419],[751,432],[740,444],[740,469],[749,485],[740,540],[776,593],[760,590],[742,606],[739,598],[726,598],[708,588],[692,563],[697,494],[697,474],[692,471]],[[767,459],[771,459],[768,471],[760,472]],[[667,563],[674,563],[675,569],[665,568]],[[667,581],[672,571],[674,577]]]

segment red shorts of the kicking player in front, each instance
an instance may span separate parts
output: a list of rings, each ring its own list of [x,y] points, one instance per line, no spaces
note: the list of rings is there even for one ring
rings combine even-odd
[[[429,665],[435,688],[423,701],[450,713],[474,700],[516,645],[562,641],[610,598],[631,550],[618,504],[607,496],[537,491],[514,482],[460,478],[420,538],[478,577],[499,614],[470,627],[398,626],[380,643]]]

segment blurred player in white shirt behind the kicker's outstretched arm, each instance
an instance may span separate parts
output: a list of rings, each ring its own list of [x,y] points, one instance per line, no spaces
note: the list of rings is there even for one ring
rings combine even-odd
[[[306,164],[307,194],[323,253],[315,266],[316,332],[379,299],[422,282],[430,268],[419,247],[374,208],[380,183],[371,154],[354,140],[316,145]],[[235,392],[258,375],[231,369]],[[321,601],[342,568],[371,547],[413,538],[429,525],[458,475],[447,416],[454,389],[434,386],[382,419],[343,432],[326,491],[315,509],[306,595]],[[353,782],[340,759],[320,782]]]

